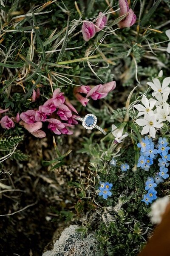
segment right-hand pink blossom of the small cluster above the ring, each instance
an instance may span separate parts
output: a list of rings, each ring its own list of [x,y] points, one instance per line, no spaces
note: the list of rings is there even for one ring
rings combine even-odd
[[[86,97],[91,97],[93,100],[99,100],[105,98],[110,91],[113,91],[116,87],[116,82],[108,82],[104,85],[96,85],[94,86],[86,95]]]

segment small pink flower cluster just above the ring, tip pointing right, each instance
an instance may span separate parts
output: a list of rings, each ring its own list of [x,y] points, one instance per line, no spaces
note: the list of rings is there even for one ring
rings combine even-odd
[[[86,106],[91,97],[93,100],[99,100],[108,95],[110,91],[113,91],[116,87],[116,82],[108,82],[104,85],[99,84],[91,88],[89,85],[81,85],[80,87],[74,88],[74,96],[77,100],[82,103],[82,106]],[[86,94],[86,97],[83,97],[81,93]]]

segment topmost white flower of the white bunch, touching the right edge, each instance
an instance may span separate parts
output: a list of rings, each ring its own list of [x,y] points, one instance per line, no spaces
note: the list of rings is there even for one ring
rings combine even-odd
[[[162,85],[158,78],[153,78],[153,82],[147,82],[148,85],[153,89],[152,96],[154,97],[157,93],[168,93],[170,92],[170,87],[168,87],[170,83],[170,77],[165,77]]]

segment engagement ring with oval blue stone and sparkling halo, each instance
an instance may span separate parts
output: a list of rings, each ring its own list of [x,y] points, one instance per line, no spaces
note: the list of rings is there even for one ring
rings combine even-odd
[[[93,128],[98,129],[100,132],[102,132],[104,135],[107,134],[107,132],[104,131],[101,127],[96,125],[97,118],[93,114],[87,114],[84,118],[75,118],[78,121],[82,121],[82,126],[85,127],[85,129],[92,130]]]

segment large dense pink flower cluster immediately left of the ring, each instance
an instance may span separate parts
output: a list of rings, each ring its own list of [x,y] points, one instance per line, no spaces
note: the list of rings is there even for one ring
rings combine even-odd
[[[33,92],[34,93],[34,92]],[[39,109],[27,110],[20,114],[20,124],[31,132],[32,135],[38,138],[44,138],[45,132],[41,130],[42,122],[48,122],[48,129],[55,134],[72,134],[68,127],[72,127],[74,124],[78,124],[75,119],[77,110],[72,104],[63,96],[63,92],[57,88],[51,99],[47,100]],[[34,97],[35,98],[35,97]],[[62,123],[62,121],[66,121]]]

